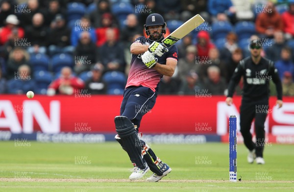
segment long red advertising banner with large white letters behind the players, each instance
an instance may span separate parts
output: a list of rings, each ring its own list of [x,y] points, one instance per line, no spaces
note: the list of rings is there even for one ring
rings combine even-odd
[[[0,131],[12,133],[115,132],[114,117],[120,115],[122,96],[26,96],[0,97]],[[236,115],[239,130],[241,97],[227,106],[224,96],[158,96],[154,108],[141,122],[144,133],[226,135],[229,115]],[[294,97],[284,97],[277,109],[270,98],[266,132],[294,135]],[[253,131],[253,130],[252,130]]]

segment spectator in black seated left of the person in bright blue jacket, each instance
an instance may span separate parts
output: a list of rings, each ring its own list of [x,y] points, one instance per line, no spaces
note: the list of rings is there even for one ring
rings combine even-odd
[[[56,15],[49,32],[49,55],[52,56],[61,52],[72,53],[74,47],[70,45],[70,35],[71,30],[65,24],[63,16]]]

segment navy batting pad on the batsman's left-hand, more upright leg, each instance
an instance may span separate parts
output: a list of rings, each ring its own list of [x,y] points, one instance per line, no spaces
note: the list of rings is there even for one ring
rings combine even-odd
[[[134,124],[124,116],[114,118],[116,131],[119,135],[119,143],[127,152],[132,163],[135,163],[139,168],[145,168],[145,160],[142,157],[141,140],[135,130]],[[118,137],[116,138],[118,141]]]

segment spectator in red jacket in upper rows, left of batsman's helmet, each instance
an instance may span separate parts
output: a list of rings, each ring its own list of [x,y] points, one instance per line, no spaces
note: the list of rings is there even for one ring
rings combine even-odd
[[[120,37],[119,28],[115,26],[113,23],[113,17],[109,13],[104,13],[102,15],[102,26],[96,29],[96,36],[97,36],[97,47],[101,47],[106,42],[106,30],[109,28],[113,28],[115,30],[115,39],[118,40]]]

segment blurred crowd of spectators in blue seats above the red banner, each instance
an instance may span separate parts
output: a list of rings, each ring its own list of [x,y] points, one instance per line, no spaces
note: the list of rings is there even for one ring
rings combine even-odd
[[[164,17],[166,35],[205,19],[176,43],[178,65],[160,94],[225,95],[257,35],[284,96],[294,96],[294,0],[0,0],[0,94],[123,94],[129,46],[146,36],[151,13]]]

